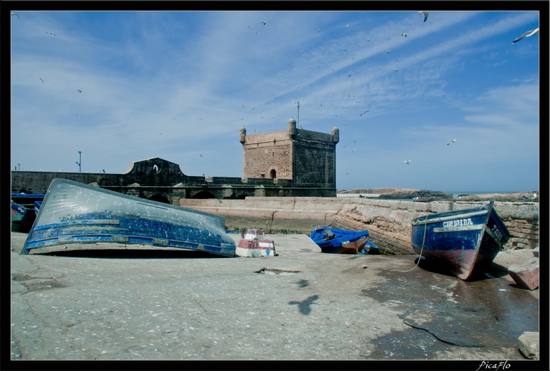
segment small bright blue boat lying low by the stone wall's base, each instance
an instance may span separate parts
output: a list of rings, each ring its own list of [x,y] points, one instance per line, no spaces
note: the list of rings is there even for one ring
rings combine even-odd
[[[315,229],[310,234],[310,239],[317,243],[319,248],[321,248],[321,252],[330,254],[359,254],[369,241],[369,231],[362,230],[355,232],[315,225]],[[376,248],[372,243],[369,246]]]

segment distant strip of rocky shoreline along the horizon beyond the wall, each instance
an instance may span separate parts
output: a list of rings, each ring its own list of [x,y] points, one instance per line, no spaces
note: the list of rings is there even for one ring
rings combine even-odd
[[[358,197],[380,198],[384,200],[415,200],[418,202],[463,200],[463,201],[501,201],[501,202],[538,202],[538,191],[523,191],[513,193],[478,193],[473,195],[451,194],[442,191],[408,188],[355,188],[338,190],[339,196],[357,195]],[[536,193],[537,197],[530,198]]]

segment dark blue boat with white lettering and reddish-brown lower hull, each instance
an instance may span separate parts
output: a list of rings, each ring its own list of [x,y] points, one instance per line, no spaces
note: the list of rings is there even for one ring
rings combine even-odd
[[[412,221],[411,243],[415,252],[464,280],[474,270],[492,263],[509,238],[510,232],[494,209],[494,201]]]

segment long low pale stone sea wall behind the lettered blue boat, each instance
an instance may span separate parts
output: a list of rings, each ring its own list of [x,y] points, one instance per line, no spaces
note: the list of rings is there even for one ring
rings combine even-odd
[[[412,254],[411,222],[435,212],[469,209],[487,202],[410,202],[370,198],[247,197],[244,200],[181,199],[182,207],[224,216],[229,230],[259,228],[266,233],[309,234],[316,224],[369,230],[370,240],[386,254]],[[538,202],[495,202],[510,231],[504,250],[539,244]]]

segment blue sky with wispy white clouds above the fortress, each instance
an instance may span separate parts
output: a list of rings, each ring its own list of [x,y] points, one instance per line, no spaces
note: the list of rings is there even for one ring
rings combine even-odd
[[[512,42],[548,8],[424,21],[397,6],[23,5],[10,16],[12,170],[124,173],[160,157],[185,175],[240,178],[240,128],[286,130],[294,117],[340,130],[337,189],[539,190],[548,33]]]

